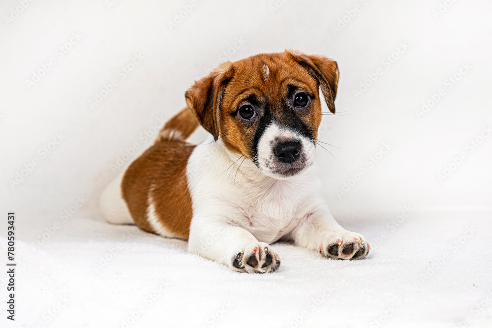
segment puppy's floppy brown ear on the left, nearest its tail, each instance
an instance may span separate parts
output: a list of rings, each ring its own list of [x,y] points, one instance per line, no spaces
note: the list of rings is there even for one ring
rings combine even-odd
[[[215,140],[220,133],[220,102],[233,71],[232,63],[224,62],[208,76],[195,81],[195,84],[184,93],[189,109]]]

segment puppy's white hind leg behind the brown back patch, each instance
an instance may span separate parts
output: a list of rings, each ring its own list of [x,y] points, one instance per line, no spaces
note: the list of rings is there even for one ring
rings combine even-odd
[[[101,210],[106,220],[113,224],[133,224],[133,219],[122,196],[123,173],[104,189],[100,198]]]

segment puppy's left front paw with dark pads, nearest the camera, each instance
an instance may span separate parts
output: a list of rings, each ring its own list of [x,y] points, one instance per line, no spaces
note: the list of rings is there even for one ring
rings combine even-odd
[[[280,267],[280,257],[265,242],[250,244],[235,252],[231,267],[248,273],[273,272]]]

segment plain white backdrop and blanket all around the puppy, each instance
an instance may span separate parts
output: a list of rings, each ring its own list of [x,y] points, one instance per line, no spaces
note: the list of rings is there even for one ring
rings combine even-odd
[[[0,1],[0,328],[492,327],[492,1],[194,1]],[[239,274],[104,222],[102,190],[195,79],[285,49],[338,62],[337,114],[318,135],[334,146],[317,151],[322,196],[369,240],[368,259],[276,244],[278,272]]]

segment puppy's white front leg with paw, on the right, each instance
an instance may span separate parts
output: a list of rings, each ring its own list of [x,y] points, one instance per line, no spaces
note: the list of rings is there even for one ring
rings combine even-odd
[[[326,205],[309,211],[302,221],[288,236],[299,246],[342,260],[362,259],[369,254],[370,246],[364,237],[343,229]]]

